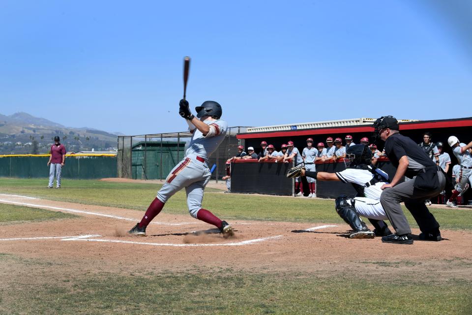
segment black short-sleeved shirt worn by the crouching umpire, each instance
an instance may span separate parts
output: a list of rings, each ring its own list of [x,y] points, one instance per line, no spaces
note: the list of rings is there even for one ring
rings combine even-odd
[[[421,147],[400,133],[395,133],[387,138],[385,154],[395,167],[398,167],[400,158],[403,156],[408,158],[409,165],[405,173],[408,178],[418,175],[418,171],[425,167],[436,166]]]

